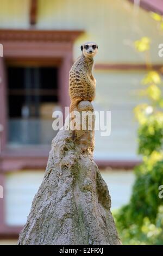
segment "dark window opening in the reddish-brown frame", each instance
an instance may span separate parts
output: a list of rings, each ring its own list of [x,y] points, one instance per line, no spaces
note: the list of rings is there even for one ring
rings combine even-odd
[[[58,69],[8,66],[10,145],[51,143],[52,113],[58,108]]]

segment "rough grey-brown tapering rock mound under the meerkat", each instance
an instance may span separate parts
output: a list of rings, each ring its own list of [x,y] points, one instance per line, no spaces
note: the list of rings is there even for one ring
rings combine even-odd
[[[93,111],[90,102],[78,107]],[[76,142],[71,131],[58,132],[19,245],[120,245],[93,147],[93,131],[78,131]]]

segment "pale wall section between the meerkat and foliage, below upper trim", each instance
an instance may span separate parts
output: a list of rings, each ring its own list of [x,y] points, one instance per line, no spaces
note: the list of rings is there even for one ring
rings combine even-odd
[[[95,132],[95,158],[98,160],[137,160],[137,121],[133,109],[140,97],[140,81],[145,72],[95,72],[97,111],[111,111],[111,134]]]

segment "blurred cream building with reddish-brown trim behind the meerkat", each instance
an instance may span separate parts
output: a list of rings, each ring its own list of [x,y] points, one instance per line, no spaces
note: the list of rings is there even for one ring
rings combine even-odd
[[[148,11],[163,14],[163,3],[133,2],[0,0],[0,236],[17,235],[26,221],[56,135],[52,113],[70,103],[68,72],[84,41],[99,45],[93,104],[111,111],[111,135],[96,131],[95,160],[112,168],[139,162],[133,108],[146,65],[132,42],[149,36],[152,63],[160,67],[162,37]]]

